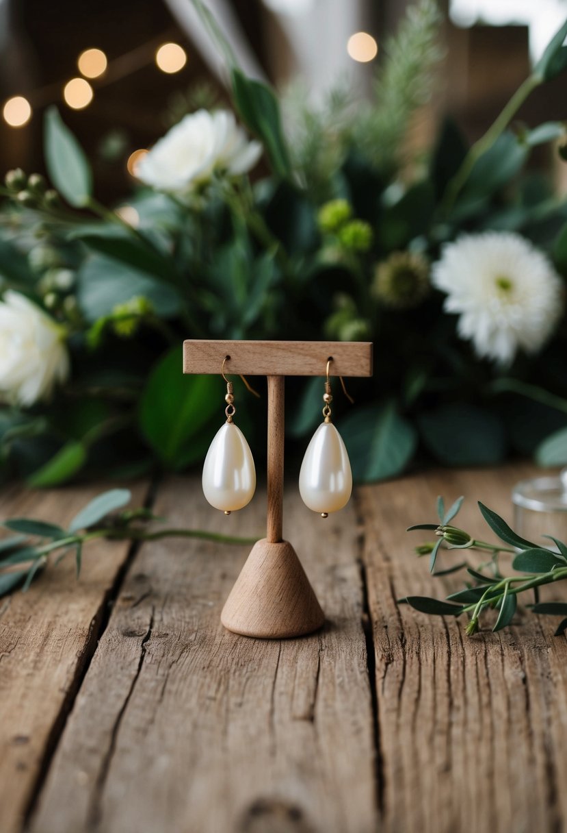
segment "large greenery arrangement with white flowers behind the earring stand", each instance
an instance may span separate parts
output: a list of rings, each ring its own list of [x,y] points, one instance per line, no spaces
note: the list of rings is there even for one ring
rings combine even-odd
[[[0,476],[51,486],[201,461],[222,386],[181,375],[186,337],[375,342],[365,404],[340,417],[358,481],[431,458],[567,463],[567,200],[526,171],[534,147],[567,155],[565,124],[514,122],[565,71],[567,22],[478,142],[446,120],[408,157],[441,59],[432,0],[385,45],[371,102],[338,88],[318,109],[245,77],[195,6],[253,140],[228,110],[186,114],[109,208],[51,108],[50,182],[16,170],[0,189]],[[303,447],[320,382],[291,384]],[[254,436],[265,409],[249,405]]]

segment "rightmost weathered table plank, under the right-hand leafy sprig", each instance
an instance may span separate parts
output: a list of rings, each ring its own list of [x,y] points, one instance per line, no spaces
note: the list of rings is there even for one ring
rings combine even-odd
[[[511,521],[510,487],[533,473],[520,466],[442,471],[358,492],[386,833],[565,830],[565,637],[552,636],[549,618],[525,613],[510,629],[469,638],[463,621],[395,601],[443,598],[459,585],[455,576],[432,578],[426,559],[417,560],[412,548],[427,533],[404,532],[410,523],[435,520],[438,494],[450,500],[465,494],[456,525],[491,541],[476,500]],[[443,554],[439,569],[462,555]],[[560,598],[560,588],[552,589]]]

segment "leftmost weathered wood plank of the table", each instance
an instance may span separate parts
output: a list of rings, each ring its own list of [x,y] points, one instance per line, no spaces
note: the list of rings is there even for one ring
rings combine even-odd
[[[32,516],[66,523],[101,489],[2,492],[0,516]],[[143,501],[145,487],[136,487]],[[84,554],[79,585],[70,553],[47,567],[37,583],[0,600],[0,827],[22,826],[43,762],[62,728],[67,704],[96,647],[106,599],[128,543],[93,542]]]

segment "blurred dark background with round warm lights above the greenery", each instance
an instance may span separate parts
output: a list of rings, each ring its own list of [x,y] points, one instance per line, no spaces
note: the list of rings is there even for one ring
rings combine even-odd
[[[440,3],[446,57],[436,95],[408,137],[417,147],[431,142],[445,112],[478,137],[567,12],[567,0]],[[208,5],[249,75],[279,89],[299,78],[316,103],[343,78],[361,95],[369,90],[407,0]],[[222,56],[190,0],[0,0],[0,69],[0,169],[42,172],[42,110],[56,103],[91,157],[105,202],[130,190],[136,159],[185,112],[228,102]],[[530,124],[564,115],[563,77],[520,112]],[[542,153],[532,164],[553,161]]]

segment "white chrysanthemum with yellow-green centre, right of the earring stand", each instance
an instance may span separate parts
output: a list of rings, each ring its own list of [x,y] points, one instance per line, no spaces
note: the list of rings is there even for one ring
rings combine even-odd
[[[431,282],[444,309],[480,357],[509,365],[518,349],[540,350],[563,312],[563,287],[550,261],[513,232],[463,235],[448,243]]]

